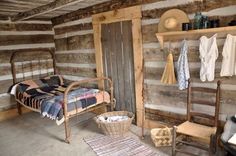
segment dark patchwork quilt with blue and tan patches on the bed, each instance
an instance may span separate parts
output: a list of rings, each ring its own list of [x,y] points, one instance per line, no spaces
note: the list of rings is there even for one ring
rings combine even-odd
[[[17,84],[16,98],[41,112],[43,117],[60,120],[63,117],[63,96],[67,85],[59,75],[39,80],[26,80]],[[110,102],[107,92],[98,89],[78,88],[68,94],[68,112],[83,111],[89,106],[102,102]]]

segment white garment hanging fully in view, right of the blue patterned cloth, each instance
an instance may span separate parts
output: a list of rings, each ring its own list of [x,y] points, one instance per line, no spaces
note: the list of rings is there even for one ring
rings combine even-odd
[[[200,79],[201,81],[213,81],[215,78],[215,61],[218,58],[218,48],[216,43],[217,34],[210,38],[202,36],[200,38]]]

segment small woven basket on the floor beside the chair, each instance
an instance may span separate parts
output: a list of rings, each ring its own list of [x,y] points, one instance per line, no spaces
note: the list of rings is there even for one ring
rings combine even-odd
[[[172,144],[172,128],[164,126],[164,128],[154,128],[151,130],[151,138],[156,147],[171,146]]]

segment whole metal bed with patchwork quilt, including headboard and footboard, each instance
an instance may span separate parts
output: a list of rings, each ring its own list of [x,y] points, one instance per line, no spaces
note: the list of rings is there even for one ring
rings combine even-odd
[[[35,54],[14,52],[11,70],[14,84],[11,94],[15,96],[18,113],[21,114],[21,106],[24,106],[43,117],[56,120],[58,125],[64,123],[67,143],[70,143],[70,118],[102,107],[109,107],[111,111],[114,109],[113,85],[109,78],[68,83],[57,75],[52,51]]]

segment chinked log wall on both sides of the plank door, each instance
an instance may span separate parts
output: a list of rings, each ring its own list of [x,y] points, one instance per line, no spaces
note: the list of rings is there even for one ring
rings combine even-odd
[[[115,3],[115,9],[124,8],[140,4],[141,1],[130,1],[124,3]],[[102,5],[101,5],[102,6]],[[91,15],[103,11],[112,10],[112,6],[104,5],[102,7],[93,7],[94,11],[84,10],[73,12],[65,16],[52,19],[55,30],[55,44],[57,67],[62,75],[69,79],[81,79],[94,77],[95,71],[95,50],[93,44],[93,30]],[[171,124],[180,123],[185,120],[186,114],[186,91],[178,90],[177,85],[164,85],[160,82],[164,70],[166,55],[160,50],[160,45],[155,37],[158,32],[158,22],[162,13],[169,9],[179,8],[185,11],[192,20],[194,13],[201,11],[210,17],[219,18],[221,26],[236,19],[236,1],[235,0],[210,0],[204,3],[194,0],[176,0],[170,1],[150,0],[143,1],[142,4],[142,35],[143,35],[143,55],[144,55],[144,104],[146,107],[146,118],[162,120]],[[216,62],[216,78],[213,82],[201,82],[199,79],[200,59],[199,59],[199,41],[195,39],[188,40],[189,44],[189,66],[191,78],[195,86],[215,87],[217,80],[222,80],[222,103],[220,106],[220,119],[225,120],[229,114],[236,112],[236,77],[219,77],[222,60],[222,47],[225,38],[218,38],[219,58]],[[171,46],[175,49],[174,61],[179,56],[181,40],[174,40]],[[167,45],[168,43],[166,43]],[[196,95],[204,97],[205,95]],[[207,96],[205,96],[207,97]],[[196,108],[201,110],[211,109]]]

